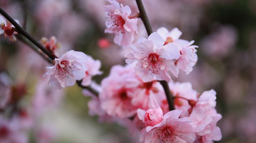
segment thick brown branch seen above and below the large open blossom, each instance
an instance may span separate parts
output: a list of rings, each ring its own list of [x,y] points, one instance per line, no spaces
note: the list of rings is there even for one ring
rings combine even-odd
[[[151,33],[153,33],[150,21],[148,20],[146,11],[144,9],[143,3],[141,0],[136,0],[136,3],[138,5],[139,11],[140,11],[140,18],[147,30],[147,34],[150,35]],[[167,83],[167,81],[159,81],[161,83],[161,85],[163,86],[163,89],[165,90],[165,94],[166,94],[166,98],[168,101],[168,105],[169,105],[169,109],[170,110],[174,110],[174,102],[173,102],[173,95],[170,92],[169,89],[169,85]]]

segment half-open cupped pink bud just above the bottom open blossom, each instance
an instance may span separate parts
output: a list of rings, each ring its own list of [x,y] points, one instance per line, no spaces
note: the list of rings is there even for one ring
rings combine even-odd
[[[146,131],[163,120],[163,111],[154,98],[151,98],[151,107],[147,111],[138,109],[138,117],[146,125]]]

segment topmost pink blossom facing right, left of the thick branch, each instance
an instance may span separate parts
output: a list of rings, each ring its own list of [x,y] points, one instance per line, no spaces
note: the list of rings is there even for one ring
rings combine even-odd
[[[114,33],[114,42],[124,47],[129,46],[134,38],[134,33],[138,33],[137,21],[129,17],[131,9],[129,6],[123,6],[115,0],[108,0],[111,5],[105,5],[106,29],[107,33]]]

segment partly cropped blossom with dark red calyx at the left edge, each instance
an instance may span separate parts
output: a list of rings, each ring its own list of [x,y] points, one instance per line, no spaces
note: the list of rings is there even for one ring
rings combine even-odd
[[[18,20],[15,19],[15,21],[19,24]],[[4,34],[4,38],[8,38],[10,41],[15,42],[16,37],[14,36],[14,34],[17,34],[17,32],[13,30],[14,26],[8,20],[5,20],[5,18],[1,15],[0,15],[0,26],[1,26],[0,34]]]

